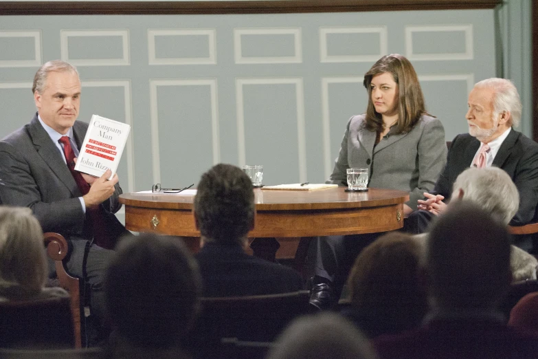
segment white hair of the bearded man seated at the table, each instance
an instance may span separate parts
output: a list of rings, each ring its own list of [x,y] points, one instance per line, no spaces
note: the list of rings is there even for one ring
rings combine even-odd
[[[519,99],[517,88],[511,80],[506,78],[486,78],[475,87],[489,87],[495,89],[493,100],[493,116],[497,118],[502,111],[510,111],[511,125],[518,127],[522,118],[522,102]]]

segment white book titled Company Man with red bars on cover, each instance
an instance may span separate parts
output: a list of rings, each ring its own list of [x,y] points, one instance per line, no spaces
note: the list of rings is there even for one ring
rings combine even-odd
[[[120,163],[131,126],[98,115],[91,116],[75,170],[101,177],[110,168],[112,179]]]

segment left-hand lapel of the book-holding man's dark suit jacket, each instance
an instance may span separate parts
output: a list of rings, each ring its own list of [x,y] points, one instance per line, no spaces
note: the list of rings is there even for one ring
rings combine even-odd
[[[67,165],[63,162],[63,158],[60,151],[58,151],[58,147],[54,145],[47,131],[45,131],[43,126],[41,126],[37,115],[32,119],[32,122],[30,122],[28,131],[30,132],[30,137],[32,138],[34,148],[36,149],[38,155],[41,156],[43,161],[45,161],[49,168],[56,174],[56,176],[58,176],[60,181],[65,184],[72,195],[75,197],[80,196],[81,193],[78,190],[78,186],[73,178],[73,175],[71,175],[69,168],[67,168]]]

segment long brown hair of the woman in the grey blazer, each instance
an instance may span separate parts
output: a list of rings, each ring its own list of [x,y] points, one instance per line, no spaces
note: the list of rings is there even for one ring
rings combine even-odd
[[[382,74],[390,74],[396,83],[396,94],[392,113],[398,114],[397,129],[399,133],[410,131],[421,116],[426,113],[421,84],[418,82],[413,65],[400,54],[390,54],[380,58],[372,68],[364,74],[363,85],[368,91],[368,107],[366,109],[366,127],[370,131],[383,130],[383,120],[379,109],[372,100],[372,81]],[[383,88],[381,88],[383,90]],[[388,91],[392,89],[389,88]],[[385,96],[385,95],[383,95]],[[385,103],[386,98],[383,98]]]

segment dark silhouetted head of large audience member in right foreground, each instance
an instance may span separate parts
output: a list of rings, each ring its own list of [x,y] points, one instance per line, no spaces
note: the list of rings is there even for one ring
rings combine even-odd
[[[451,204],[429,232],[427,272],[436,309],[497,309],[511,283],[511,237],[475,204]]]

